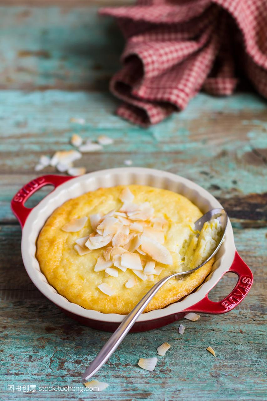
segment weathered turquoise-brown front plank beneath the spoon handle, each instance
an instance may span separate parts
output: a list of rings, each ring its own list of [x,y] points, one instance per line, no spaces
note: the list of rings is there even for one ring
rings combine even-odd
[[[7,384],[81,386],[81,371],[109,334],[71,321],[34,290],[22,266],[19,227],[2,227],[0,237],[6,249],[5,255],[0,255],[3,323],[0,348],[5,355],[0,365],[3,395]],[[264,399],[261,323],[265,231],[235,229],[235,239],[241,256],[257,277],[250,294],[238,308],[225,315],[203,315],[197,322],[184,320],[186,331],[182,336],[177,331],[179,322],[153,332],[128,335],[97,375],[110,384],[105,393],[85,395],[69,391],[52,396],[38,392],[36,397],[117,401],[172,400],[179,395],[183,401],[202,401],[236,400],[239,394],[240,400]],[[248,241],[249,248],[245,245]],[[232,279],[225,279],[214,288],[211,298],[222,298],[231,288]],[[154,372],[137,367],[139,357],[155,356],[156,348],[164,341],[170,342],[171,348],[165,357],[159,357]],[[209,345],[216,350],[217,358],[205,350]],[[9,394],[10,399],[12,395],[17,401],[30,397],[14,393]]]

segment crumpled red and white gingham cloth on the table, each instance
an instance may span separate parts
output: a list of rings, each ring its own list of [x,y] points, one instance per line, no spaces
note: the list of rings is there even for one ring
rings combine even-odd
[[[100,14],[126,39],[110,89],[135,124],[157,124],[200,89],[230,95],[239,75],[267,97],[267,0],[138,0]]]

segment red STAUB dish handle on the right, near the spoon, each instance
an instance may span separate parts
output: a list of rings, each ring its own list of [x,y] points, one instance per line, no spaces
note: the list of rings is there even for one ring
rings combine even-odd
[[[229,312],[234,309],[245,298],[253,283],[253,274],[251,269],[241,259],[238,252],[235,252],[233,263],[228,271],[237,273],[239,279],[235,288],[231,293],[220,302],[213,302],[208,299],[208,294],[205,298],[194,304],[183,312],[204,312],[211,314],[220,314]],[[227,272],[226,272],[227,273]]]

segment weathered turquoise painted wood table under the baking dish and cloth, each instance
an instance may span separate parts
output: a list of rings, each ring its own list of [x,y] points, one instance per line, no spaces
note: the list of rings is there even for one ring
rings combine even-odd
[[[141,129],[114,113],[118,102],[108,81],[119,68],[123,41],[112,20],[97,16],[100,3],[0,3],[1,399],[266,399],[266,101],[253,92],[227,98],[200,93],[185,111]],[[73,117],[85,124],[71,122]],[[196,322],[183,319],[183,335],[180,322],[129,334],[97,374],[109,383],[102,393],[82,391],[80,377],[109,334],[67,318],[36,290],[22,264],[21,231],[9,207],[14,193],[36,176],[39,156],[71,149],[75,132],[114,139],[76,162],[88,172],[132,160],[133,166],[168,170],[209,190],[227,209],[237,249],[255,276],[237,308]],[[29,206],[47,192],[36,193]],[[235,277],[226,275],[210,298],[226,296]],[[156,356],[165,341],[171,348],[156,369],[140,369],[138,359]]]

